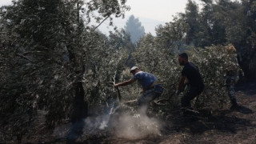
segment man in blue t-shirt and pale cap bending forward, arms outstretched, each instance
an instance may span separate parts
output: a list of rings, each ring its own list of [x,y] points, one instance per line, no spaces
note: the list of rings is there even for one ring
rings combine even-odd
[[[143,72],[139,70],[137,66],[132,67],[130,73],[134,75],[133,78],[125,82],[114,84],[114,87],[118,88],[118,86],[126,86],[138,80],[142,85],[143,91],[142,96],[138,98],[138,106],[147,108],[150,102],[161,96],[163,92],[162,85],[158,83],[158,79],[154,74]]]

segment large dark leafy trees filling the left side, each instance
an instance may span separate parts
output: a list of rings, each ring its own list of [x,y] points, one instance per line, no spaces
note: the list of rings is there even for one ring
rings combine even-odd
[[[63,0],[20,0],[1,7],[0,113],[1,133],[5,133],[1,135],[6,136],[1,142],[15,137],[20,142],[38,110],[46,110],[48,126],[86,116],[85,94],[98,94],[97,86],[110,77],[102,73],[114,75],[122,58],[114,57],[118,53],[106,36],[83,24],[82,13],[89,22],[112,14],[123,16],[127,9],[125,1]],[[98,17],[92,16],[95,11]],[[109,65],[111,58],[114,62]],[[112,70],[105,70],[106,66]],[[92,82],[85,92],[83,77],[89,73],[97,86],[90,89]]]

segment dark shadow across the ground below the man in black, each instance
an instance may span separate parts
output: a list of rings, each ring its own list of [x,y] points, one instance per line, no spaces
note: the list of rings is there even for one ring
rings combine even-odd
[[[242,114],[253,114],[253,111],[246,106],[239,106],[237,110],[222,110],[216,115],[194,114],[183,116],[180,114],[176,118],[171,118],[169,122],[167,121],[167,126],[164,129],[174,133],[189,130],[191,134],[202,134],[207,130],[218,130],[229,134],[236,134],[238,130],[246,129],[246,127],[256,128],[256,125],[250,120],[238,118],[231,114],[235,111]],[[230,114],[232,116],[229,116]]]

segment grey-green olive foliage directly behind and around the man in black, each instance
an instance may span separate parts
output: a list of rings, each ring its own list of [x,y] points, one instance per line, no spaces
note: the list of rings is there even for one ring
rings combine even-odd
[[[161,48],[158,39],[147,35],[139,43],[138,50],[134,52],[134,60],[142,70],[152,72],[165,87],[163,98],[171,98],[172,106],[180,104],[174,91],[181,76],[182,66],[178,64],[178,54],[171,48]],[[205,49],[190,48],[186,50],[190,62],[198,66],[206,89],[200,95],[195,108],[219,110],[228,104],[225,88],[225,69],[229,66],[238,66],[231,61],[235,55],[227,52],[228,46],[210,46]],[[175,48],[175,47],[173,47]],[[239,67],[236,68],[239,70]],[[186,91],[185,91],[186,92]]]

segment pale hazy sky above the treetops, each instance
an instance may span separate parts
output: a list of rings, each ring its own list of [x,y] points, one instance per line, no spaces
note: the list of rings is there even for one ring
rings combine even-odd
[[[200,3],[199,0],[194,0]],[[126,18],[114,18],[114,25],[123,28],[130,15],[139,18],[146,33],[154,34],[154,29],[158,25],[164,25],[170,22],[173,16],[185,11],[187,0],[127,0],[126,4],[130,6],[130,11],[126,12]],[[0,0],[0,6],[8,5],[11,0]],[[99,27],[104,34],[113,30],[108,26],[108,22],[104,22]]]

